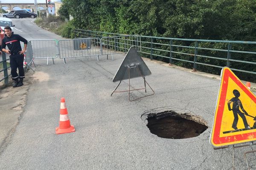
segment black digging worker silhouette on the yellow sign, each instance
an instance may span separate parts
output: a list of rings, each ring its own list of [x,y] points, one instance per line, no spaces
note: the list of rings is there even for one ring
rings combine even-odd
[[[235,90],[233,90],[233,94],[234,94],[235,97],[233,97],[232,99],[230,99],[230,101],[227,102],[228,110],[233,111],[233,114],[234,114],[234,121],[233,121],[233,124],[232,124],[232,128],[237,130],[236,126],[237,126],[238,115],[239,115],[242,118],[243,122],[244,122],[245,129],[242,129],[242,130],[248,130],[248,129],[250,129],[250,126],[248,125],[246,117],[244,115],[246,115],[246,116],[249,116],[249,115],[244,110],[242,102],[239,99],[240,93],[239,93],[238,90],[235,89]],[[232,102],[233,102],[233,106],[232,106],[232,109],[231,109],[230,104]],[[241,110],[244,113],[242,113],[239,108],[241,108]]]

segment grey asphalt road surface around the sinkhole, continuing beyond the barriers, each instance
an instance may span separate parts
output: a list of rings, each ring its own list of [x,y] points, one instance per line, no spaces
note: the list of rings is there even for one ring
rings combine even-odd
[[[61,39],[38,28],[32,19],[13,19],[15,33],[33,39]],[[22,32],[21,32],[22,31]],[[214,150],[209,144],[220,80],[145,59],[146,77],[155,94],[129,102],[128,92],[111,92],[112,79],[124,55],[114,61],[92,59],[35,60],[34,80],[10,140],[0,152],[1,170],[232,170],[232,147]],[[131,80],[134,88],[143,79]],[[118,90],[127,90],[124,81]],[[18,90],[18,89],[17,89]],[[148,88],[148,93],[150,89]],[[132,97],[143,95],[133,93]],[[56,135],[60,99],[65,97],[76,132]],[[15,100],[15,99],[13,99]],[[186,113],[208,126],[201,135],[164,139],[150,132],[143,113]],[[142,117],[141,117],[142,116]],[[244,151],[235,150],[237,170],[246,170]],[[256,169],[255,154],[248,154]]]

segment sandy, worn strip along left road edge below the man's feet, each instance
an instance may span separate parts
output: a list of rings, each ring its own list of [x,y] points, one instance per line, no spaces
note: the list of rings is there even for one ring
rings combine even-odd
[[[8,85],[0,86],[0,103],[1,103],[1,116],[12,116],[8,119],[8,122],[1,122],[1,124],[7,124],[4,129],[0,129],[0,132],[5,135],[0,138],[0,156],[12,141],[12,136],[15,133],[20,120],[23,117],[23,107],[26,105],[27,93],[30,86],[35,81],[32,70],[28,70],[25,73],[24,85],[18,88],[12,88],[12,80],[9,78]],[[2,120],[5,121],[5,120]],[[4,132],[3,132],[3,131]]]

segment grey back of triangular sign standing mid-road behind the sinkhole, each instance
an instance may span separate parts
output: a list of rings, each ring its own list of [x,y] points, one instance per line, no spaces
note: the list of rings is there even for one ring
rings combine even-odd
[[[140,57],[134,46],[132,46],[125,55],[122,64],[119,66],[119,69],[113,78],[113,82],[129,79],[128,67],[139,67],[140,69],[140,71],[138,71],[138,69],[130,69],[130,79],[142,76],[145,77],[151,74],[148,66]]]

